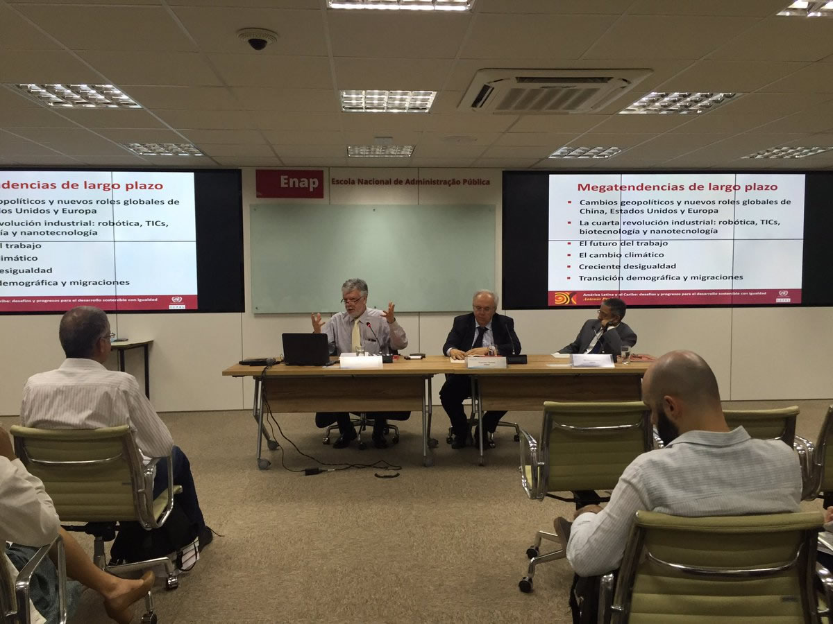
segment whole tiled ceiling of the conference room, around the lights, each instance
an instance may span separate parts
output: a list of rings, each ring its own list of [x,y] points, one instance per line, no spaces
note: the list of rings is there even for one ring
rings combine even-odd
[[[476,0],[471,12],[326,0],[0,0],[2,166],[831,169],[833,18],[791,0]],[[244,27],[277,32],[256,52]],[[648,69],[592,114],[458,110],[484,68]],[[112,84],[141,109],[66,109],[17,83]],[[341,112],[340,89],[436,91],[429,113]],[[699,115],[620,115],[649,92],[737,92]],[[348,158],[391,137],[409,158]],[[382,140],[384,142],[385,140]],[[191,143],[204,156],[137,156]],[[606,159],[548,159],[616,146]]]

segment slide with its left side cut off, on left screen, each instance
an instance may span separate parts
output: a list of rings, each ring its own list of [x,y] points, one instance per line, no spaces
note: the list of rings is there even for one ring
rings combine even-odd
[[[0,312],[197,310],[194,173],[0,171]]]

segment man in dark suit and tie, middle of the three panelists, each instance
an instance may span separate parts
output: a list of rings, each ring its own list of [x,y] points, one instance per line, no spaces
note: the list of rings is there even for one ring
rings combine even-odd
[[[497,295],[491,290],[478,290],[471,300],[472,312],[454,319],[442,352],[451,359],[465,359],[466,355],[498,355],[521,353],[521,341],[515,334],[515,321],[496,314]],[[454,442],[451,448],[463,448],[469,438],[468,419],[463,401],[471,398],[471,381],[467,375],[446,375],[440,389],[440,401],[446,410]],[[494,433],[497,422],[506,412],[489,411],[483,414],[483,434]]]

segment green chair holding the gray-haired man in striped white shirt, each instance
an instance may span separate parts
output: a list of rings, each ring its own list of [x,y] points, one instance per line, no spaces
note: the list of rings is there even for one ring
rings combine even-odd
[[[95,538],[93,561],[105,572],[127,572],[162,566],[167,572],[165,587],[179,585],[176,568],[167,557],[142,562],[108,565],[104,542],[116,537],[119,522],[138,522],[146,531],[162,527],[173,508],[173,497],[182,488],[173,485],[167,471],[167,489],[153,498],[153,468],[160,458],[143,465],[142,455],[127,425],[98,429],[11,429],[17,457],[27,470],[40,478],[52,498],[67,531],[82,531]],[[167,458],[172,466],[172,458]],[[142,624],[156,622],[153,598],[145,598]]]

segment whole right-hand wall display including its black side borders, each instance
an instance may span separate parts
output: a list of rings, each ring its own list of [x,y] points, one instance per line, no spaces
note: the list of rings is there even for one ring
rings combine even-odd
[[[507,172],[506,307],[826,305],[813,258],[830,185],[791,172]]]

